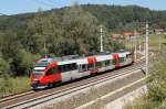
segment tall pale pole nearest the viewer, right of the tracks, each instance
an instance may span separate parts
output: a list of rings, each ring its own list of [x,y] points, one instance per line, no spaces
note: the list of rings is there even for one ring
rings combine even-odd
[[[146,54],[146,76],[148,75],[148,22],[146,22],[146,41],[145,41],[145,54]]]

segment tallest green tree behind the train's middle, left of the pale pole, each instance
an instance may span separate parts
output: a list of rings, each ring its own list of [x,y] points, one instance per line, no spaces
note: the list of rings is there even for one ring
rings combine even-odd
[[[65,10],[62,26],[64,29],[64,54],[83,54],[96,51],[97,20],[91,13],[74,6]]]

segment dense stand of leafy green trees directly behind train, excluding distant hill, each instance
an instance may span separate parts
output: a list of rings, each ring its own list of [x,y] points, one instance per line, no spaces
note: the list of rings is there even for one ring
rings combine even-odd
[[[44,55],[97,53],[98,25],[94,15],[74,6],[65,9],[62,17],[39,10],[23,29],[3,30],[1,26],[0,72],[13,76],[25,75],[31,73],[35,61]],[[111,46],[108,48],[114,50]]]

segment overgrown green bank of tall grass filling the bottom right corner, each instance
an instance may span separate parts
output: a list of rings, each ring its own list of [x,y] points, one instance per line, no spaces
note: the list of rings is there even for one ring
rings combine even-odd
[[[166,109],[166,54],[154,63],[148,78],[148,92],[124,107],[124,109]]]

